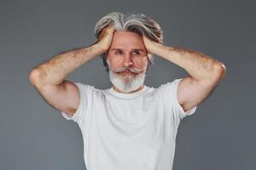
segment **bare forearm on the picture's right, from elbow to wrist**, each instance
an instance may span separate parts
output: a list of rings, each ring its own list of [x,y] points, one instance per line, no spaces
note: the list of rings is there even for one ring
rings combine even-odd
[[[224,65],[216,59],[188,48],[167,47],[158,44],[154,54],[181,66],[196,80],[216,80],[221,76]]]

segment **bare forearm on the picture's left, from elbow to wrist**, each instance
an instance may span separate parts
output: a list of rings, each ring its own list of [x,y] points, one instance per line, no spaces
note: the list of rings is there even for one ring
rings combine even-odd
[[[63,82],[69,73],[98,54],[102,54],[102,50],[96,44],[57,54],[32,70],[31,82],[39,85],[58,85]]]

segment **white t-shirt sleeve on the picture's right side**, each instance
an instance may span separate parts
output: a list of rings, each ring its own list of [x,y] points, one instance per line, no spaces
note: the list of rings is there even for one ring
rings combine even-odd
[[[166,82],[166,84],[161,85],[163,88],[164,98],[167,101],[167,105],[171,105],[169,107],[173,113],[173,121],[179,122],[185,116],[190,116],[195,113],[197,105],[191,108],[189,111],[183,111],[183,107],[177,101],[177,87],[178,83],[182,80],[182,78],[175,79],[173,82]]]

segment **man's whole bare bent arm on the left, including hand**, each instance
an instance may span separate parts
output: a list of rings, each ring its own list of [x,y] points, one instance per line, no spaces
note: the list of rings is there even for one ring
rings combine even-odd
[[[29,75],[33,87],[49,105],[73,116],[79,108],[79,88],[73,82],[64,79],[90,59],[105,53],[112,42],[113,32],[113,26],[107,27],[103,29],[98,41],[90,47],[57,54],[36,66]]]

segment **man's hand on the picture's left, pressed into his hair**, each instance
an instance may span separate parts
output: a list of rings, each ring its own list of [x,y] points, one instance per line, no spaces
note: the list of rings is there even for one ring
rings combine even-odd
[[[111,45],[113,39],[113,32],[115,31],[114,26],[108,26],[102,30],[100,37],[98,38],[96,44],[102,49],[102,53],[106,53]]]

